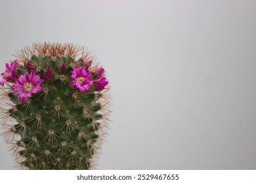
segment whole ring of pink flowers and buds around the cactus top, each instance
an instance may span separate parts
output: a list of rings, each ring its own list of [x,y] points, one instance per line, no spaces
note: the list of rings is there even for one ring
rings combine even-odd
[[[81,67],[81,65],[76,65],[73,71],[71,72],[72,81],[70,82],[70,86],[74,86],[74,88],[79,89],[82,93],[86,93],[90,91],[90,86],[93,87],[93,90],[96,92],[100,92],[105,89],[105,86],[108,84],[106,77],[104,77],[104,69],[102,67],[95,67],[91,73],[88,71],[89,66],[91,65],[91,61],[85,61],[86,67]],[[19,67],[18,61],[14,60],[11,64],[6,63],[5,71],[1,73],[3,79],[0,81],[0,85],[4,86],[6,82],[14,83],[12,85],[13,94],[18,95],[20,101],[26,101],[27,97],[32,97],[33,93],[39,93],[43,90],[40,86],[42,82],[54,79],[54,72],[51,69],[47,69],[43,74],[43,78],[41,75],[35,75],[35,65],[33,63],[26,63],[26,73],[24,75],[19,75],[17,71],[17,67]],[[49,66],[49,65],[46,65]],[[60,73],[65,73],[66,65],[62,63],[59,67]]]

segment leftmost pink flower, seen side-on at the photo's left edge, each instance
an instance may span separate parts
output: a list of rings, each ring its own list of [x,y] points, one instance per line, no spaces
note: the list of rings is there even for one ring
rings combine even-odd
[[[4,86],[5,82],[13,82],[15,78],[18,76],[18,72],[16,71],[16,65],[18,64],[17,60],[14,60],[11,65],[9,63],[5,64],[5,72],[1,73],[3,79],[0,81],[0,85]]]

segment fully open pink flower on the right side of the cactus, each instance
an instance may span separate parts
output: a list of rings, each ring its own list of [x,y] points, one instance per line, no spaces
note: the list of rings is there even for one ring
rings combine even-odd
[[[87,92],[90,90],[89,85],[93,84],[91,81],[91,73],[86,73],[85,67],[78,69],[74,67],[74,71],[71,72],[72,75],[70,76],[73,78],[72,82],[70,83],[71,86],[75,86],[75,88],[79,89],[80,92]]]

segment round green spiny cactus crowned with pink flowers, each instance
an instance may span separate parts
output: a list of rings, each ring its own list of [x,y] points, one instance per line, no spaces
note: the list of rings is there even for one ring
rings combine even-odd
[[[1,74],[3,135],[24,169],[92,169],[108,122],[108,80],[83,48],[39,43]]]

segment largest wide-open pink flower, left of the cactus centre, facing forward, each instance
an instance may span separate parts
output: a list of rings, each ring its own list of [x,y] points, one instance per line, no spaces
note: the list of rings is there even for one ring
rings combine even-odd
[[[44,81],[40,79],[40,75],[35,75],[32,70],[30,74],[28,72],[25,75],[21,75],[15,80],[16,84],[13,87],[13,95],[18,95],[18,98],[22,103],[26,101],[27,97],[32,97],[32,93],[39,93],[43,90],[40,84]]]

